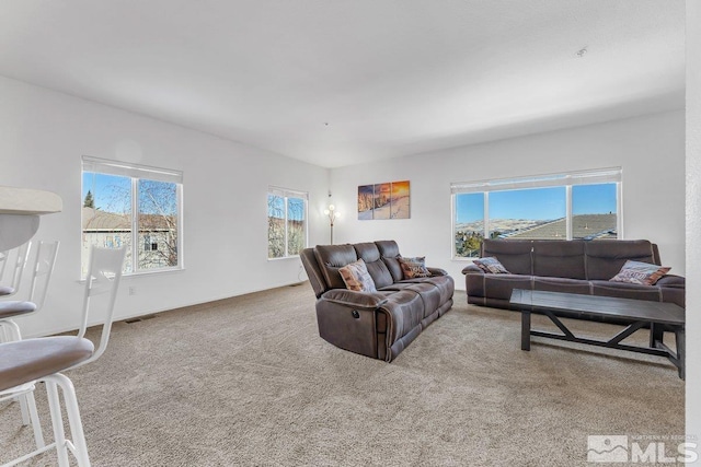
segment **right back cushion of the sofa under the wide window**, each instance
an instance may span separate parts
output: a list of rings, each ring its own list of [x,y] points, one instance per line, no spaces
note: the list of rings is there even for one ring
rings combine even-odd
[[[653,245],[646,240],[594,240],[584,243],[588,280],[609,280],[627,260],[656,264]]]

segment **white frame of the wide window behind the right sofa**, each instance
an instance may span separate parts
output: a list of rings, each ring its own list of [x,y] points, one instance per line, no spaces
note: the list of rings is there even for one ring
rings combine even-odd
[[[565,188],[566,206],[566,240],[572,240],[572,187],[575,185],[596,185],[616,183],[616,229],[617,237],[623,238],[623,171],[621,167],[598,168],[578,171],[562,174],[533,175],[519,178],[498,178],[479,182],[460,182],[450,184],[450,213],[451,213],[451,252],[452,259],[471,261],[473,258],[457,256],[456,254],[456,196],[466,192],[484,194],[484,238],[489,238],[490,232],[490,192],[529,188]]]

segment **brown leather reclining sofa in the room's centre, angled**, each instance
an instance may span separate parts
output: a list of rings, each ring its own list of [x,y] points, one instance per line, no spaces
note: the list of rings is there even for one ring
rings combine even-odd
[[[319,335],[352,352],[391,362],[452,306],[455,282],[443,269],[404,280],[393,241],[318,245],[301,253],[317,294]],[[377,292],[347,290],[338,269],[363,258]]]

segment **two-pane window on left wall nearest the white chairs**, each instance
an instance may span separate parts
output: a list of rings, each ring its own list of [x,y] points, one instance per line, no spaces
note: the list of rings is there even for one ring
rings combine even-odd
[[[182,268],[183,175],[83,156],[82,259],[90,248],[127,248],[125,273]]]

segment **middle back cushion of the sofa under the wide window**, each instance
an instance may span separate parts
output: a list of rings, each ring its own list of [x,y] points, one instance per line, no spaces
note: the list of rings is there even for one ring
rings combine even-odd
[[[533,241],[533,276],[586,279],[584,242]]]

